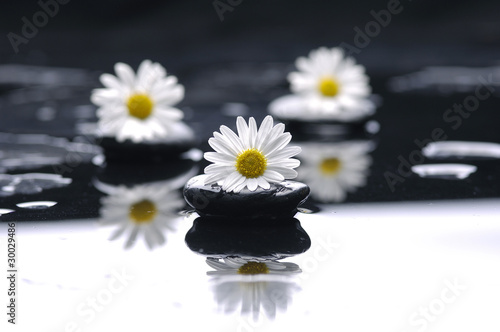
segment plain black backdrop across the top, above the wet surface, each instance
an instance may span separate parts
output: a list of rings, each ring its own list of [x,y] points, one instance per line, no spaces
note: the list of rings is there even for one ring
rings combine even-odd
[[[223,2],[226,2],[224,0]],[[15,54],[7,33],[20,34],[37,1],[0,5],[2,63],[109,71],[117,60],[163,63],[184,71],[213,63],[291,62],[318,46],[353,43],[370,12],[389,1],[234,1],[221,22],[213,1],[70,0]],[[226,2],[227,3],[227,2]],[[401,0],[393,15],[356,57],[373,74],[426,65],[489,65],[500,42],[498,1]]]

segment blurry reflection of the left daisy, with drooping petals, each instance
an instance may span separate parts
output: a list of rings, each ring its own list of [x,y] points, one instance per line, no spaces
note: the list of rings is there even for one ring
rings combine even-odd
[[[114,187],[111,195],[102,198],[100,223],[119,225],[110,240],[130,231],[125,248],[130,248],[139,233],[144,234],[149,249],[165,243],[164,229],[175,231],[174,222],[184,206],[180,193],[162,182],[133,188]]]

